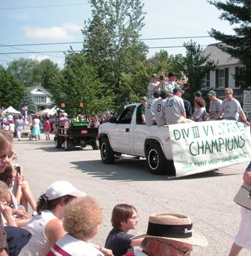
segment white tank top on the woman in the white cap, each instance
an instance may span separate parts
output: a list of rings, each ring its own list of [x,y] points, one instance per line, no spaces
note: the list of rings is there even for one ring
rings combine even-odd
[[[50,210],[44,210],[28,222],[24,228],[31,233],[31,240],[22,249],[20,256],[46,255],[49,252],[51,245],[44,234],[44,227],[52,219],[57,217]]]

